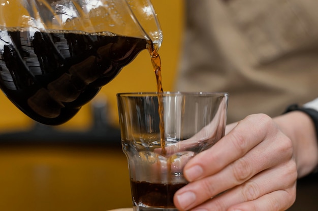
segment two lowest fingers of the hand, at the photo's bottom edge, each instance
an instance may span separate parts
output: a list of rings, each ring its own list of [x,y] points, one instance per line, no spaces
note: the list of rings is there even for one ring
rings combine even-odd
[[[242,185],[207,200],[195,207],[195,203],[187,206],[176,205],[181,210],[194,208],[204,210],[285,210],[292,205],[296,196],[296,164],[293,161],[282,163],[276,168],[267,169]],[[279,171],[278,171],[279,170]],[[281,172],[281,173],[277,173]],[[273,183],[273,181],[277,181]],[[190,200],[187,202],[189,203]]]

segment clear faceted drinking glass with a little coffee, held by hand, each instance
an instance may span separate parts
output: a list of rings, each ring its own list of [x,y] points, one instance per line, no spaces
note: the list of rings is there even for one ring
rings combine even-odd
[[[134,211],[177,210],[173,195],[187,184],[184,165],[225,134],[228,93],[120,93],[117,102]]]

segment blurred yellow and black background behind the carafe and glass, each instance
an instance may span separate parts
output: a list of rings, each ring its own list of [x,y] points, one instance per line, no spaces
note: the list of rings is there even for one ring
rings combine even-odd
[[[165,91],[172,91],[183,28],[183,1],[152,1],[164,41],[159,54]],[[0,93],[0,210],[107,210],[131,207],[121,150],[116,93],[156,91],[142,51],[69,122],[41,125]]]

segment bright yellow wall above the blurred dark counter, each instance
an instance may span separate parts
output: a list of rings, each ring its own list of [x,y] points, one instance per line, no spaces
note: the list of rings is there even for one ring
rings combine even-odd
[[[171,91],[180,50],[183,1],[153,0],[152,3],[164,34],[164,41],[158,52],[162,59],[163,88],[165,91]],[[121,73],[104,86],[96,97],[107,98],[111,109],[111,121],[114,125],[118,125],[116,93],[133,91],[156,91],[155,75],[146,50],[141,52],[131,64],[124,67]],[[23,130],[32,126],[33,122],[15,108],[2,92],[0,102],[0,132]],[[71,121],[63,124],[61,129],[85,129],[90,124],[90,105],[88,104]]]

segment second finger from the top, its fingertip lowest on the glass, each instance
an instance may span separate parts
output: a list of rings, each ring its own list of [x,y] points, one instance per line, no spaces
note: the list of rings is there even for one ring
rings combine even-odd
[[[277,145],[275,146],[277,149],[276,151],[265,146],[265,143],[261,143],[255,149],[249,151],[244,157],[234,161],[223,170],[210,175],[209,177],[205,177],[201,180],[188,184],[186,187],[179,190],[176,195],[178,196],[178,194],[183,194],[184,192],[194,193],[196,201],[192,205],[196,206],[225,190],[229,190],[235,186],[243,184],[245,181],[248,181],[264,169],[277,166],[280,163],[294,163],[294,160],[291,161],[292,153],[290,153],[287,146],[281,140],[277,140]],[[280,158],[276,157],[277,154]],[[274,169],[277,170],[277,168]],[[273,178],[274,177],[271,177],[266,181],[272,180]],[[248,197],[246,200],[247,199],[251,200]],[[178,198],[178,200],[180,200],[180,198]]]

